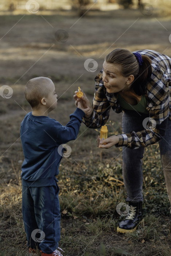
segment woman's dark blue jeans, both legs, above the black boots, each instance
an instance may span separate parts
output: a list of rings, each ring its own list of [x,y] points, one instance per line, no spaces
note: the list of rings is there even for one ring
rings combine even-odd
[[[123,133],[144,130],[142,123],[146,117],[149,117],[149,114],[137,113],[135,111],[124,112],[122,121]],[[168,118],[168,120],[164,121],[164,124],[166,131],[159,142],[159,148],[168,198],[171,203],[171,120]],[[143,169],[141,160],[143,154],[143,147],[137,149],[123,147],[123,179],[127,191],[126,201],[143,201]]]

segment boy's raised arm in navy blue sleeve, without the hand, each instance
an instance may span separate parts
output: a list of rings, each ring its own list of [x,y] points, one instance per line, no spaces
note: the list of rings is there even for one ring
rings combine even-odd
[[[77,108],[73,114],[70,114],[69,123],[67,123],[66,126],[59,126],[56,139],[56,142],[59,145],[65,144],[70,140],[75,140],[77,138],[83,116],[85,116],[85,112]]]

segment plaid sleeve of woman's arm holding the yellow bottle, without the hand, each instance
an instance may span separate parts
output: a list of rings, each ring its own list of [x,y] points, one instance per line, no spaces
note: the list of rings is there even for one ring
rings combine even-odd
[[[119,143],[116,147],[127,146],[128,148],[147,147],[161,140],[160,125],[169,114],[171,87],[171,74],[167,74],[166,69],[159,64],[152,64],[152,75],[147,82],[145,96],[147,98],[147,110],[149,120],[144,122],[144,129],[140,132],[131,132],[118,135]],[[171,72],[171,70],[170,70]]]

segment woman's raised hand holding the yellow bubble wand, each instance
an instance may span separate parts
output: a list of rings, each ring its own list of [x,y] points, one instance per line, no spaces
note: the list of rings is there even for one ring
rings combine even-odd
[[[82,91],[80,89],[80,91]],[[75,99],[75,106],[82,109],[85,112],[85,118],[90,118],[92,116],[93,113],[93,108],[92,108],[92,104],[90,103],[90,101],[88,100],[87,96],[85,95],[85,93],[82,91],[83,96],[81,97],[81,99],[79,99],[77,97],[77,93],[78,91],[74,92],[74,99]],[[79,104],[78,104],[79,102]]]

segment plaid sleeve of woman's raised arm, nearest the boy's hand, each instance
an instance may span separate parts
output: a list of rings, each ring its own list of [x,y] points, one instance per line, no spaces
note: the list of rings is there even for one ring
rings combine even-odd
[[[106,88],[102,81],[102,70],[95,78],[96,86],[93,98],[93,114],[89,119],[83,117],[82,122],[88,128],[100,128],[109,118],[110,103],[106,97]]]

